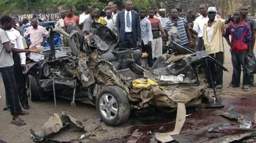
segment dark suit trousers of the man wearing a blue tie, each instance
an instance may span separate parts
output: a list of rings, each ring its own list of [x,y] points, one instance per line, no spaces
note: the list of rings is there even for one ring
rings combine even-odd
[[[137,43],[134,41],[132,32],[124,34],[124,41],[120,41],[119,47],[128,49],[137,47]]]

